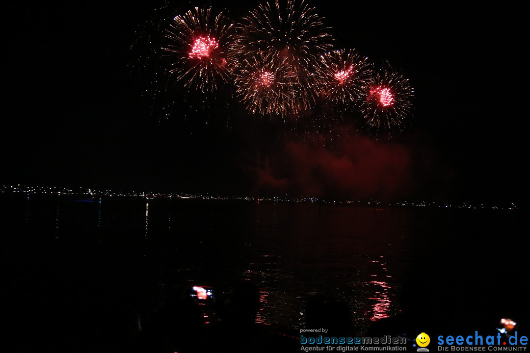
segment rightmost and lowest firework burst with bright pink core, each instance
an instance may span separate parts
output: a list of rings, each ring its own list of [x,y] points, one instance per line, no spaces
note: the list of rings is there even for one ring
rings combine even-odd
[[[366,122],[373,127],[401,126],[412,110],[414,90],[409,80],[390,65],[370,80],[367,96],[360,105]]]

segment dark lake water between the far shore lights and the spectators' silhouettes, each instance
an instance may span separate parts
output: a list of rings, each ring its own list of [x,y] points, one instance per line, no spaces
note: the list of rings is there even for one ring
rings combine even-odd
[[[399,313],[401,288],[415,281],[442,322],[527,317],[520,210],[57,195],[1,195],[0,207],[22,336],[82,336],[99,307],[125,302],[148,317],[186,284],[222,291],[240,279],[259,287],[257,321],[290,329],[323,294],[347,302],[363,334]]]

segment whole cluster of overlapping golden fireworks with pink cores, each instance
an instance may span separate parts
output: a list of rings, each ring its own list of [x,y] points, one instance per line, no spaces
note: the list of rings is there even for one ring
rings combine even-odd
[[[390,66],[374,76],[366,57],[354,50],[333,50],[323,18],[306,0],[270,0],[238,22],[197,7],[177,16],[167,11],[169,7],[161,7],[162,16],[148,23],[157,35],[145,31],[138,41],[149,47],[138,64],[155,67],[147,95],[153,97],[153,111],[157,103],[165,103],[166,117],[181,114],[172,105],[183,95],[172,89],[188,88],[184,95],[190,88],[206,93],[196,96],[205,107],[214,101],[207,91],[226,82],[234,83],[247,110],[294,121],[296,131],[311,124],[330,126],[323,123],[329,120],[324,116],[351,115],[352,108],[360,110],[367,125],[391,128],[401,126],[412,110],[408,80]],[[215,97],[223,97],[217,102],[224,104],[232,93],[217,89]]]

